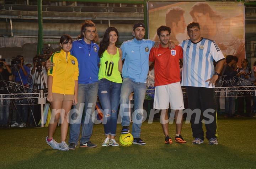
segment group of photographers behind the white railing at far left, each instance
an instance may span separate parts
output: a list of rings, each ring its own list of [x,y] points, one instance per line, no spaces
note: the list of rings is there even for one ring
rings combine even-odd
[[[33,124],[33,118],[35,121],[39,121],[41,115],[34,113],[34,117],[29,116],[30,112],[38,111],[38,106],[29,106],[25,93],[31,93],[29,88],[33,89],[47,89],[47,69],[45,62],[39,60],[40,56],[33,58],[33,64],[24,63],[24,58],[18,55],[12,59],[11,65],[8,65],[4,60],[0,60],[0,79],[1,79],[1,94],[18,94],[21,99],[15,99],[16,114],[14,117],[15,122],[11,127],[25,127],[27,124]],[[32,66],[33,65],[33,66]],[[12,85],[13,81],[17,85]],[[24,93],[24,95],[22,95]],[[3,96],[5,102],[0,106],[0,126],[8,127],[10,115],[10,96]],[[22,103],[22,104],[21,104]],[[28,119],[28,117],[31,117]],[[34,124],[36,126],[36,124]]]

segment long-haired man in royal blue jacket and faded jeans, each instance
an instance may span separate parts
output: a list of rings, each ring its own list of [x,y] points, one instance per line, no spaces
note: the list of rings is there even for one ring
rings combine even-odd
[[[85,21],[81,26],[81,34],[78,40],[73,41],[71,54],[78,60],[79,77],[78,77],[78,104],[74,106],[78,111],[70,113],[70,134],[69,149],[75,150],[80,135],[81,119],[84,111],[84,119],[82,119],[82,133],[79,147],[94,148],[96,144],[92,144],[90,137],[92,135],[93,121],[92,115],[95,110],[97,93],[98,93],[98,45],[96,42],[96,28],[92,21]],[[82,106],[84,103],[84,106]],[[72,121],[72,122],[71,122]]]

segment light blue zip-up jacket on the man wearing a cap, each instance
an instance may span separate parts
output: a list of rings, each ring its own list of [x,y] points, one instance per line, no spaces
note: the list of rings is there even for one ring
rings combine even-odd
[[[122,59],[125,59],[122,76],[135,82],[146,83],[149,70],[149,52],[154,46],[152,40],[137,40],[136,38],[123,42]]]

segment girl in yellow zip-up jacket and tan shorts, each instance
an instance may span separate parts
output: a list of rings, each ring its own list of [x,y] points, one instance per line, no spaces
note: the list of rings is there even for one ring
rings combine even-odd
[[[47,100],[52,105],[52,118],[49,123],[48,136],[46,142],[53,149],[68,151],[66,135],[68,132],[68,121],[66,119],[72,104],[77,104],[78,95],[78,61],[70,54],[72,48],[72,38],[69,35],[60,37],[59,52],[53,53],[50,57],[54,63],[52,69],[48,70],[48,95]],[[61,142],[57,143],[53,139],[54,131],[61,118]]]

